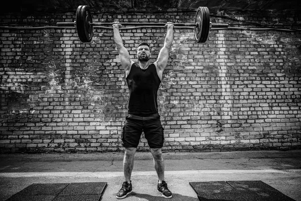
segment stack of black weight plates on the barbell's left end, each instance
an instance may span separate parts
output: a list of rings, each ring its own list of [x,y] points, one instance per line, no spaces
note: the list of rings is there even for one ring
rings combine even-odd
[[[85,42],[91,42],[93,36],[92,16],[88,6],[79,6],[76,11],[76,29],[79,39]]]

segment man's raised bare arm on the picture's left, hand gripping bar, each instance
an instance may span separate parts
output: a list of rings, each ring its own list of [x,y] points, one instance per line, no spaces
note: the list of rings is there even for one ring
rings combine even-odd
[[[119,53],[121,66],[125,71],[125,75],[127,76],[129,74],[132,63],[134,62],[131,61],[128,51],[123,46],[122,39],[119,33],[119,28],[121,27],[121,24],[118,23],[119,22],[115,22],[115,24],[113,24],[114,42]]]

